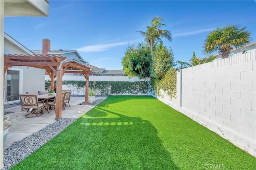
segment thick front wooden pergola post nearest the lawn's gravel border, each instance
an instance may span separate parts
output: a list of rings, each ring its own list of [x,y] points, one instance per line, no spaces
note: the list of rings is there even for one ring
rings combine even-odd
[[[57,70],[57,82],[56,82],[56,115],[55,119],[62,117],[62,66]]]

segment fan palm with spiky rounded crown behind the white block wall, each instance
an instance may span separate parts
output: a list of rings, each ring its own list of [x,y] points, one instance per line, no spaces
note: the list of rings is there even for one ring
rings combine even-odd
[[[204,43],[204,55],[219,51],[222,59],[228,58],[233,47],[242,48],[251,42],[250,31],[246,27],[238,28],[237,24],[217,27],[206,38]]]

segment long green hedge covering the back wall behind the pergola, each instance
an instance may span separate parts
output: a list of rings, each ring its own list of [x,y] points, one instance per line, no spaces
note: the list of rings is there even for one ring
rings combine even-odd
[[[55,81],[56,83],[56,81]],[[85,81],[68,80],[62,81],[69,89],[84,92]],[[94,82],[89,82],[89,88],[93,87]],[[45,81],[45,89],[49,90],[50,80]],[[137,81],[137,82],[114,82],[114,81],[96,81],[95,90],[99,95],[111,94],[149,94],[152,92],[150,81]]]

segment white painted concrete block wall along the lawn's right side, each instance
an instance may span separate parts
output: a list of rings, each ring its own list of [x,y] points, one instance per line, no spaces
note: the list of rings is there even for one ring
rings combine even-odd
[[[256,157],[255,80],[254,50],[182,69],[181,104],[166,94],[158,99]]]

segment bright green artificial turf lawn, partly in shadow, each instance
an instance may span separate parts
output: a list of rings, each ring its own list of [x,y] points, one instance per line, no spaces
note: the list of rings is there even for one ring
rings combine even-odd
[[[12,170],[255,170],[256,158],[151,96],[109,96]]]

